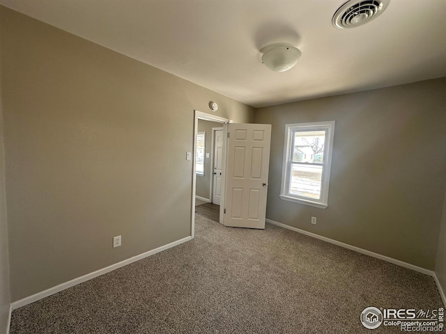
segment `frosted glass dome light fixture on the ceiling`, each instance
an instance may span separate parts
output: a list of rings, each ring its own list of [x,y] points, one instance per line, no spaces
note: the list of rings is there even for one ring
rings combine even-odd
[[[302,53],[289,45],[270,45],[264,48],[262,63],[274,72],[285,72],[294,67]]]

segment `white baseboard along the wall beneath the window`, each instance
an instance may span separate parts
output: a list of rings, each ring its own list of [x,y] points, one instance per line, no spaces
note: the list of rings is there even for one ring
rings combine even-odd
[[[359,247],[356,247],[356,246],[351,246],[349,244],[344,244],[344,242],[337,241],[337,240],[334,240],[334,239],[330,239],[330,238],[327,238],[327,237],[322,237],[321,235],[314,234],[312,232],[307,232],[305,230],[300,230],[299,228],[293,228],[292,226],[285,225],[285,224],[282,224],[282,223],[278,223],[277,221],[272,221],[271,219],[268,219],[268,218],[266,219],[266,222],[274,224],[274,225],[277,225],[277,226],[280,226],[281,228],[286,228],[288,230],[292,230],[292,231],[295,231],[295,232],[298,232],[298,233],[301,233],[301,234],[305,234],[305,235],[307,235],[309,237],[313,237],[313,238],[316,238],[316,239],[319,239],[319,240],[322,240],[322,241],[329,242],[330,244],[341,246],[341,247],[344,247],[344,248],[347,248],[347,249],[350,249],[350,250],[355,250],[355,252],[357,252],[357,253],[362,253],[364,255],[369,255],[371,257],[376,257],[377,259],[380,259],[380,260],[384,260],[384,261],[387,261],[387,262],[390,262],[390,263],[393,263],[393,264],[397,264],[397,266],[400,266],[400,267],[404,267],[404,268],[407,268],[407,269],[412,269],[414,271],[418,271],[419,273],[424,273],[426,275],[435,277],[434,276],[435,273],[433,271],[429,270],[429,269],[424,269],[422,267],[417,267],[417,266],[415,266],[413,264],[393,259],[392,257],[387,257],[385,255],[380,255],[378,253],[371,252],[370,250],[366,250],[366,249],[359,248]],[[444,301],[444,299],[443,299],[443,301]]]

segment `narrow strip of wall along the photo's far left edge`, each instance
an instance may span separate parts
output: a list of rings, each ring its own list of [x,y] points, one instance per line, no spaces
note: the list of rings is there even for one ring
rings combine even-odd
[[[0,41],[2,31],[0,29]],[[1,50],[1,42],[0,42]],[[0,51],[1,63],[1,51]],[[0,71],[0,333],[6,333],[9,317],[10,287],[8,260],[8,226],[6,225],[6,199],[4,180],[3,153],[3,103],[1,100],[1,71]]]

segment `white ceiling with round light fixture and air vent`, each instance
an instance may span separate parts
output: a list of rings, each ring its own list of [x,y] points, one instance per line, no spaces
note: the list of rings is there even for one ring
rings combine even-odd
[[[446,77],[446,0],[390,0],[353,29],[345,0],[0,0],[99,45],[254,107]],[[302,51],[271,72],[259,49]]]

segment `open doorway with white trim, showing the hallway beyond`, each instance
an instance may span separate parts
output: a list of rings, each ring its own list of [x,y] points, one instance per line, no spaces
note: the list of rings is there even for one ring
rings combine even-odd
[[[192,237],[195,214],[222,223],[224,184],[224,124],[229,120],[195,111]]]

